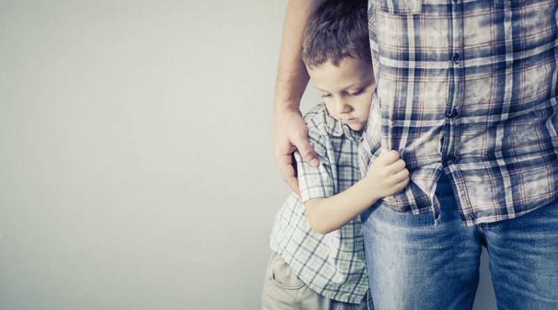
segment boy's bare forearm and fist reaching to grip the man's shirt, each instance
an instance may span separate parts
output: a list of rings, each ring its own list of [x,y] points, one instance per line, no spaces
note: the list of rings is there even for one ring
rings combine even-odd
[[[400,192],[409,183],[409,171],[399,153],[391,150],[372,162],[368,173],[344,192],[304,202],[306,217],[317,233],[330,233],[386,196]]]

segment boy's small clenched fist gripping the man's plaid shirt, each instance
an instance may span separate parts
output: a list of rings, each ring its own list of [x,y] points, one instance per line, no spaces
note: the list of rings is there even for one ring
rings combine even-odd
[[[396,150],[382,153],[370,164],[365,179],[370,183],[375,198],[397,194],[409,183],[409,170]]]

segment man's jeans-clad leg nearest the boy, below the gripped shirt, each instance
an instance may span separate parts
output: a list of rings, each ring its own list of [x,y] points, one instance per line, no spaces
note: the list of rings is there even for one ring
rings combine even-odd
[[[471,309],[481,256],[476,227],[463,227],[446,178],[442,218],[403,215],[382,203],[363,213],[370,292],[376,310]]]

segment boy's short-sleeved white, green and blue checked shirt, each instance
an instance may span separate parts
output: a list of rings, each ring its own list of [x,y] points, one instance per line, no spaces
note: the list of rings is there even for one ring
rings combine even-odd
[[[361,137],[329,116],[323,103],[311,109],[304,120],[320,164],[312,167],[295,153],[302,200],[292,194],[280,208],[271,233],[271,249],[312,290],[333,300],[359,303],[368,292],[359,217],[321,235],[308,224],[303,201],[333,196],[360,180]]]

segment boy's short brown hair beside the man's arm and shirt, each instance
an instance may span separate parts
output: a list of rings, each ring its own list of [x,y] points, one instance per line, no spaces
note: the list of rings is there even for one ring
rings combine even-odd
[[[302,61],[308,68],[346,57],[372,63],[368,39],[368,8],[364,0],[328,0],[316,10],[302,41]]]

